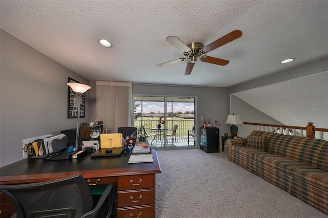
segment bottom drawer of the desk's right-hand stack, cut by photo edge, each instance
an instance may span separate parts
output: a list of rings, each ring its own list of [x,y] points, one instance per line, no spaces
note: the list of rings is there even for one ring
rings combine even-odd
[[[119,218],[153,218],[154,214],[154,206],[117,209],[117,217]]]

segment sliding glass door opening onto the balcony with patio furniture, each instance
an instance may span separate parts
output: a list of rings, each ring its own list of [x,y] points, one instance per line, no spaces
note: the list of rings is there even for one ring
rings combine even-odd
[[[195,146],[195,97],[134,96],[134,122],[156,148]]]

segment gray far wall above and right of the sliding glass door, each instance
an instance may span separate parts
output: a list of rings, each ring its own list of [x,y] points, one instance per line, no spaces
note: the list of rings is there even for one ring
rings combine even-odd
[[[229,95],[227,88],[133,84],[132,92],[133,94],[142,95],[196,97],[197,136],[199,136],[199,127],[203,125],[203,120],[200,120],[200,117],[206,119],[207,122],[208,119],[211,119],[211,124],[219,128],[220,135],[229,130],[229,125],[226,124],[229,114]],[[215,125],[215,120],[220,121],[220,124]],[[199,146],[198,140],[197,146]]]

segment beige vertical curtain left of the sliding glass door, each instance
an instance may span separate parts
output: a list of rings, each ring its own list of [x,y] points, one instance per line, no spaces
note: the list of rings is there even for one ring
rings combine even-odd
[[[132,115],[132,83],[96,81],[96,115],[104,121],[108,133],[130,126]],[[105,130],[104,129],[104,130]]]

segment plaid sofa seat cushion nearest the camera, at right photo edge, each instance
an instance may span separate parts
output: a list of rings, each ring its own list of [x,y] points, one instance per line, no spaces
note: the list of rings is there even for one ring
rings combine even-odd
[[[322,169],[293,169],[292,177],[328,191],[328,172]]]

